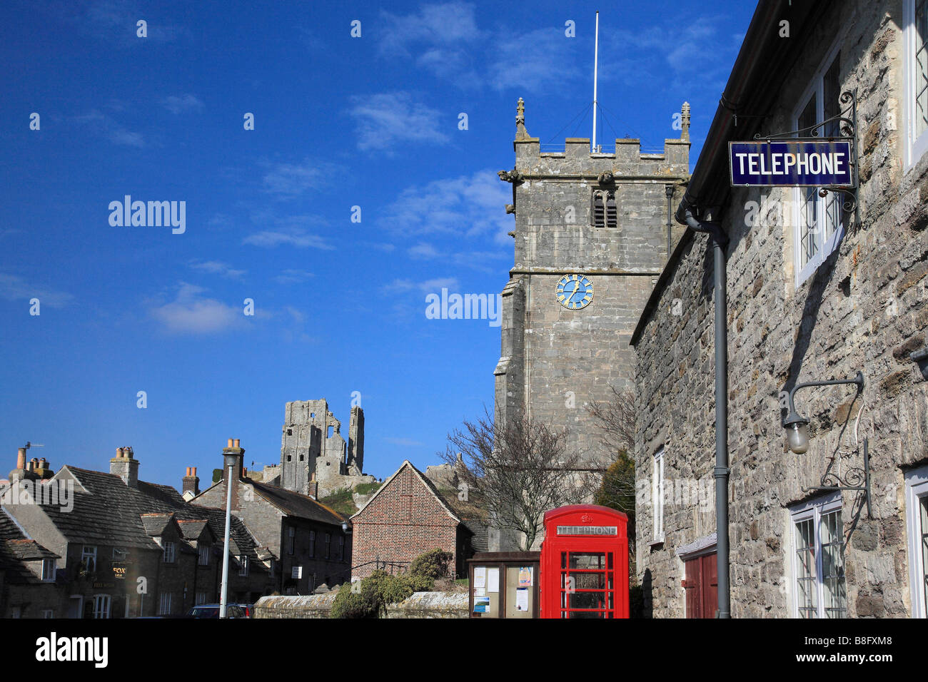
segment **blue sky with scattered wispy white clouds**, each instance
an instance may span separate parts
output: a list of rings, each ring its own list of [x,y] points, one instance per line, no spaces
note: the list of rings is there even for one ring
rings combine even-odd
[[[273,464],[287,401],[347,435],[353,392],[367,472],[435,463],[500,340],[425,296],[505,286],[516,100],[543,144],[590,135],[597,9],[600,141],[661,148],[689,100],[694,162],[752,3],[6,0],[0,476],[26,441],[56,470],[132,445],[175,486],[229,437]],[[185,201],[184,233],[110,225],[125,195]]]

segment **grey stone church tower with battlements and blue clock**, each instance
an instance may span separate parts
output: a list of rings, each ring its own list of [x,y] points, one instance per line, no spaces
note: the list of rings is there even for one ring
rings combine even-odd
[[[586,138],[548,153],[526,131],[520,98],[515,167],[499,172],[512,185],[515,264],[502,291],[496,418],[526,410],[567,427],[590,470],[615,453],[599,444],[586,405],[609,401],[610,386],[634,389],[629,341],[682,233],[669,211],[689,178],[689,104],[679,120],[680,138],[661,154],[641,153],[638,139],[590,153]]]

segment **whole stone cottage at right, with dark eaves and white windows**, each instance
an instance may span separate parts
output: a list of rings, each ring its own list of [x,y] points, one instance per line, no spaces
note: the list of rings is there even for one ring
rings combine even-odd
[[[715,568],[726,565],[734,617],[925,617],[926,10],[914,0],[757,6],[677,209],[699,231],[677,244],[632,339],[638,579],[655,617],[715,615]],[[850,135],[857,198],[731,187],[727,143],[778,133]],[[718,405],[716,344],[728,363]],[[789,392],[857,372],[859,392],[795,393],[809,423],[807,451],[793,454]],[[728,453],[718,468],[716,409]],[[726,477],[728,527],[716,533],[714,479]],[[723,537],[729,561],[716,563]]]

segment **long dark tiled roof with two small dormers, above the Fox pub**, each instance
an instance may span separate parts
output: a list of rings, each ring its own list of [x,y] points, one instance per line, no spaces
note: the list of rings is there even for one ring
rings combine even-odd
[[[170,485],[139,481],[132,488],[111,473],[79,469],[66,465],[53,480],[75,480],[73,509],[65,512],[45,504],[43,510],[69,542],[88,545],[111,545],[161,551],[150,533],[163,531],[173,515],[184,529],[183,521],[209,524],[213,536],[222,542],[226,534],[224,509],[191,505]],[[200,526],[202,530],[202,526]],[[187,537],[186,532],[184,537]],[[186,546],[185,546],[186,547]],[[182,547],[182,551],[185,550]],[[232,517],[229,550],[258,560],[257,542],[245,524]],[[255,566],[259,568],[259,566]]]

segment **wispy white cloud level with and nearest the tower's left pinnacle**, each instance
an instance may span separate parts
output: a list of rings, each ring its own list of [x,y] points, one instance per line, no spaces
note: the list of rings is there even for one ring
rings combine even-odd
[[[357,147],[362,151],[389,152],[403,142],[448,141],[448,136],[440,132],[443,114],[405,92],[352,97],[349,113],[357,129]]]

